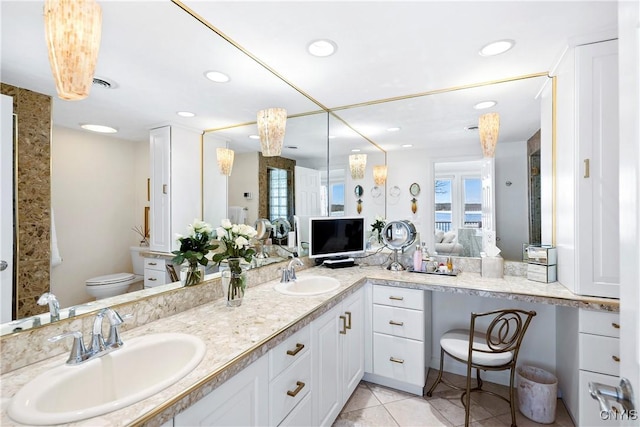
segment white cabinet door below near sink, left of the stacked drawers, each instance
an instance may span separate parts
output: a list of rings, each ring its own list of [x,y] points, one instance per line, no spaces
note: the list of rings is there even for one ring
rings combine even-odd
[[[263,356],[174,418],[178,426],[268,424],[269,363]]]

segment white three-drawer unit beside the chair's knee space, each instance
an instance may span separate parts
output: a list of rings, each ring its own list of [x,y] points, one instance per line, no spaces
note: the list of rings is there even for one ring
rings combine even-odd
[[[374,285],[373,372],[364,379],[422,395],[431,357],[431,293]]]

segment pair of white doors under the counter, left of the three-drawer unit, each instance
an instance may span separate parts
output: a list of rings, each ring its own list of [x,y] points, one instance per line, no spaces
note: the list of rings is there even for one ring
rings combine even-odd
[[[364,318],[361,288],[311,324],[311,425],[331,425],[363,377]]]

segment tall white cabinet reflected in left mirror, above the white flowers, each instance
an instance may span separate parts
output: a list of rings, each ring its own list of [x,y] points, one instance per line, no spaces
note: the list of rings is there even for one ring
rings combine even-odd
[[[201,139],[196,131],[164,126],[150,132],[149,249],[178,249],[175,234],[202,216]]]

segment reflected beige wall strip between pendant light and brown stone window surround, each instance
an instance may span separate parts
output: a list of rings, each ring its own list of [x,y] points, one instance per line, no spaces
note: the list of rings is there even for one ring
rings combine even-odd
[[[258,219],[258,152],[236,153],[233,170],[229,177],[229,206],[244,206],[248,209],[247,224],[253,226]],[[244,193],[251,193],[251,200]]]

